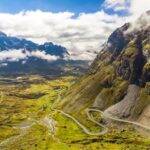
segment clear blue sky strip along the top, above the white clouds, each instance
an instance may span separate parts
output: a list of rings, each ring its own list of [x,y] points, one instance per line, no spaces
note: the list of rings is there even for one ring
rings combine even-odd
[[[0,0],[0,12],[17,13],[37,10],[74,13],[96,12],[104,0]]]

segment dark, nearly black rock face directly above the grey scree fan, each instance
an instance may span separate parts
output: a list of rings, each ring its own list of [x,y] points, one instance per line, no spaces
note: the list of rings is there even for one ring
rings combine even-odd
[[[143,67],[146,58],[143,55],[143,45],[141,35],[139,34],[135,40],[135,52],[131,57],[122,56],[121,64],[117,67],[117,74],[125,80],[129,80],[130,84],[140,84],[142,80]]]

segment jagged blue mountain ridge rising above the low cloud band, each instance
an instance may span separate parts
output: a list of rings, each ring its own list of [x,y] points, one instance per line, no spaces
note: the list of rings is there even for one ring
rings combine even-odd
[[[45,51],[47,54],[59,56],[61,58],[65,57],[65,55],[69,55],[65,47],[55,45],[52,42],[46,42],[42,45],[39,45],[32,41],[7,36],[5,33],[0,32],[0,51],[10,49],[25,49],[28,51],[40,50]]]

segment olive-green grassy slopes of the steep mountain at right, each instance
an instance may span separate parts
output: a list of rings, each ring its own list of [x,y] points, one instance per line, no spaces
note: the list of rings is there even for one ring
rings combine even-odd
[[[141,87],[138,102],[135,104],[131,112],[131,118],[137,120],[145,106],[150,104],[150,82],[148,80],[150,72],[150,44],[149,41],[143,41],[143,53],[147,57],[147,63],[143,68],[142,80],[146,80],[145,86]],[[137,76],[134,73],[129,73],[129,68],[133,72],[133,58],[136,54],[134,40],[123,49],[121,54],[115,61],[108,61],[111,54],[108,51],[99,53],[94,63],[90,68],[90,72],[78,80],[72,86],[67,96],[60,104],[60,108],[68,113],[78,113],[85,108],[95,104],[96,107],[105,110],[108,107],[120,102],[127,93],[128,85],[130,84],[131,74],[134,78]],[[130,67],[124,67],[124,59],[128,60]],[[118,73],[118,67],[122,67],[122,75]],[[125,69],[126,68],[126,69]],[[147,74],[147,75],[145,75]],[[146,78],[147,79],[144,79]],[[127,80],[128,79],[128,80]],[[148,92],[147,92],[148,91]]]

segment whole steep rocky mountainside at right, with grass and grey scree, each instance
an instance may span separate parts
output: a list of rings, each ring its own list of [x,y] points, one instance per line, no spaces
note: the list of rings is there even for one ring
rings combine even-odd
[[[110,35],[88,74],[73,85],[60,106],[69,113],[94,106],[120,118],[138,119],[150,104],[149,91],[150,26],[125,24]]]

